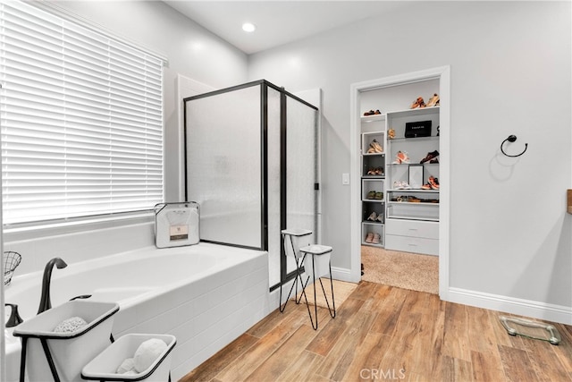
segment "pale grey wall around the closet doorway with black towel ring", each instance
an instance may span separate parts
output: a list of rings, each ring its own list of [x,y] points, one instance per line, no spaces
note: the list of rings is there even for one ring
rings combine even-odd
[[[248,57],[250,80],[323,89],[323,242],[335,249],[332,266],[349,267],[350,257],[349,186],[341,184],[350,170],[350,84],[450,64],[452,299],[472,293],[572,311],[570,24],[569,2],[403,2]],[[528,143],[523,157],[500,154],[509,134],[518,137],[510,152]]]

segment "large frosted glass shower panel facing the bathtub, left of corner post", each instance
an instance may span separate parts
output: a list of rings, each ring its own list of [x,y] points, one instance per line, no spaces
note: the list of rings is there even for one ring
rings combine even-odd
[[[200,237],[262,248],[260,87],[186,103],[187,199]]]

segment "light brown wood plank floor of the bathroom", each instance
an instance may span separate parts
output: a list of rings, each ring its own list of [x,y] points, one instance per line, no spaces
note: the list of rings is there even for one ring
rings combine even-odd
[[[562,341],[508,335],[500,312],[362,281],[337,309],[274,310],[181,378],[189,381],[572,381],[572,327]],[[505,316],[509,316],[504,314]]]

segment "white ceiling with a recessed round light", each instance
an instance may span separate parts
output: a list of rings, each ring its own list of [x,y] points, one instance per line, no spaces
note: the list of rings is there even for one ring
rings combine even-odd
[[[196,1],[163,0],[246,54],[307,38],[354,21],[387,12],[397,1]],[[244,22],[257,30],[244,32]]]

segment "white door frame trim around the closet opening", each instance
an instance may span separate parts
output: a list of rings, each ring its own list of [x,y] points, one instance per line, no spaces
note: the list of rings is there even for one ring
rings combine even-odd
[[[449,300],[449,259],[450,259],[450,65],[440,66],[419,72],[383,77],[376,80],[353,83],[350,86],[351,116],[349,131],[350,154],[350,280],[357,283],[361,280],[361,120],[359,101],[360,93],[367,90],[406,85],[419,81],[439,80],[440,106],[440,155],[439,183],[439,297]]]

